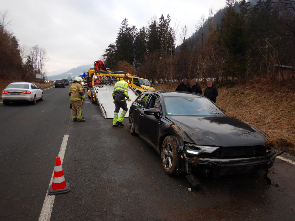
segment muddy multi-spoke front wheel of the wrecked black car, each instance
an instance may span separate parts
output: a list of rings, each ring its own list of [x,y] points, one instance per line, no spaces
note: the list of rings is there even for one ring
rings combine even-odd
[[[162,166],[169,175],[179,171],[180,157],[177,153],[177,143],[174,136],[166,136],[161,148]]]

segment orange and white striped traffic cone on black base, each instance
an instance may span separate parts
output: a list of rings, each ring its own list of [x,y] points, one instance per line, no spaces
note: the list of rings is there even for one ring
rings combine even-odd
[[[48,188],[48,195],[62,194],[70,192],[70,184],[65,182],[63,175],[63,168],[61,166],[60,157],[58,156],[55,161],[55,168],[53,174],[52,185]]]

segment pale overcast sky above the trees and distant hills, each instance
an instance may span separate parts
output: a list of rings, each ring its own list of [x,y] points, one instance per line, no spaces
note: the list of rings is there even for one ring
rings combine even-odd
[[[187,37],[196,31],[202,15],[225,6],[225,0],[0,0],[0,10],[11,20],[8,29],[20,46],[38,45],[47,52],[47,76],[101,60],[105,49],[116,41],[124,18],[131,27],[146,27],[151,18],[171,17],[177,24],[177,42],[185,25]]]

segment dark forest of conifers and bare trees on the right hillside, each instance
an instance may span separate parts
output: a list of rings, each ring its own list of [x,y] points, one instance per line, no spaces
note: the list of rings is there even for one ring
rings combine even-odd
[[[125,18],[104,64],[152,83],[213,77],[219,86],[261,82],[295,89],[294,0],[226,0],[224,9],[201,17],[193,36],[181,28],[177,50],[176,32],[169,15],[139,30]]]

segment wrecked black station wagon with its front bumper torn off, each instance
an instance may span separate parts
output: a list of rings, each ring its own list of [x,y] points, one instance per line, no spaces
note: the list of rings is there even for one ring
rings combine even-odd
[[[214,178],[250,173],[270,168],[278,155],[264,132],[190,92],[143,92],[130,107],[129,132],[160,154],[169,175],[190,176],[192,167]]]

